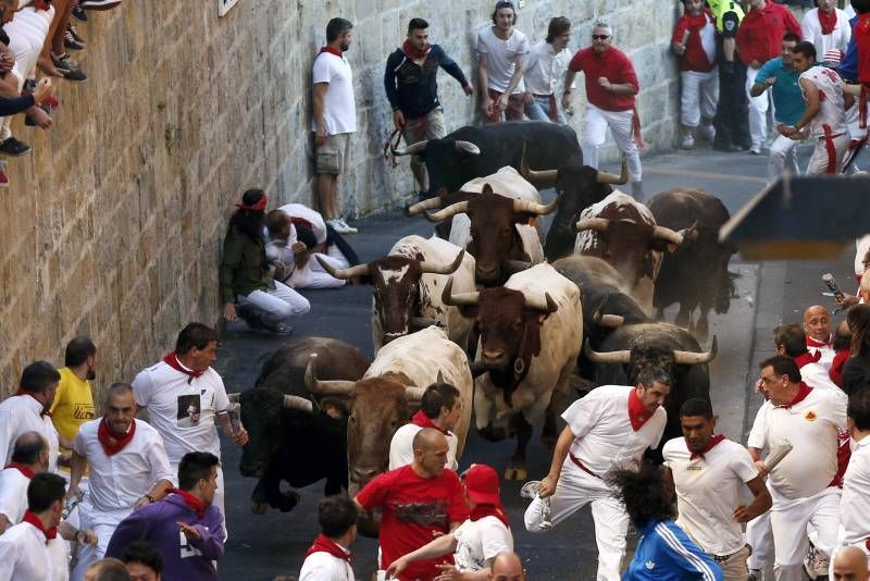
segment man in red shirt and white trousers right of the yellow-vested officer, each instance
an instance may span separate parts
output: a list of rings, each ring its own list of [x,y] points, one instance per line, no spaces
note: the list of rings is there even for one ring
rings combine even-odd
[[[768,0],[749,0],[751,10],[744,16],[737,29],[737,52],[747,66],[746,94],[749,97],[749,134],[753,137],[750,153],[761,153],[768,138],[768,107],[770,92],[751,96],[755,77],[761,65],[780,53],[780,42],[785,33],[804,37],[800,24],[792,12]]]

